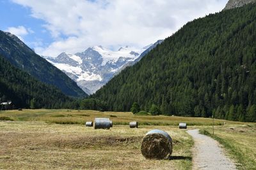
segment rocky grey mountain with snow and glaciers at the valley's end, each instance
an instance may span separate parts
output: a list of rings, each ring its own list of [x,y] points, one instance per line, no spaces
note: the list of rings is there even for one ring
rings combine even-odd
[[[75,54],[63,52],[58,57],[44,58],[75,80],[84,92],[93,94],[124,67],[138,62],[141,53],[151,50],[152,46],[156,46],[156,43],[142,49],[124,46],[117,51],[93,46],[84,52]]]

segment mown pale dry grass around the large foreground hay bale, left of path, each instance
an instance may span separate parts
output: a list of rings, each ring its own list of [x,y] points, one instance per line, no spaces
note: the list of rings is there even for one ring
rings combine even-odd
[[[84,114],[84,113],[83,113]],[[162,129],[173,138],[170,160],[147,160],[143,135]],[[0,169],[191,169],[193,140],[170,126],[94,130],[84,125],[0,122]]]

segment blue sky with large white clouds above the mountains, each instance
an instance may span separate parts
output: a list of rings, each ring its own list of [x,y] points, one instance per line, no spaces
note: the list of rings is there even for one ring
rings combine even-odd
[[[143,48],[187,22],[221,11],[228,0],[0,0],[0,29],[39,55],[102,45]]]

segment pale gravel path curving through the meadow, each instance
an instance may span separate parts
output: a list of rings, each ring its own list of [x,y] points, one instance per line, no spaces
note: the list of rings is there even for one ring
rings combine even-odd
[[[193,169],[236,169],[234,162],[224,155],[217,141],[199,134],[198,129],[188,130],[188,134],[195,141]]]

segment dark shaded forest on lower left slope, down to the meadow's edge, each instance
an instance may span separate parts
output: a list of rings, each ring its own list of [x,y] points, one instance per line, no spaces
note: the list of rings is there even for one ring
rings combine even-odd
[[[0,110],[17,108],[106,110],[106,103],[97,99],[77,99],[65,96],[59,89],[36,80],[12,66],[0,55],[0,103],[12,101]]]

